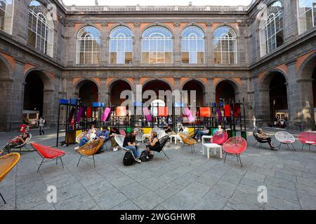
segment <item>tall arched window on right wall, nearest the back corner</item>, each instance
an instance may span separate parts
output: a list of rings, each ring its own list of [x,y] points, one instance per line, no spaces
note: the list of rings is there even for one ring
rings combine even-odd
[[[260,45],[261,57],[284,43],[283,9],[279,1],[270,4],[261,15]]]

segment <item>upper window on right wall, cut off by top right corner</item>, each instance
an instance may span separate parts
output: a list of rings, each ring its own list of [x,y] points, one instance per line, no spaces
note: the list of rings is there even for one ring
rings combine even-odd
[[[316,0],[298,0],[298,34],[316,25]]]

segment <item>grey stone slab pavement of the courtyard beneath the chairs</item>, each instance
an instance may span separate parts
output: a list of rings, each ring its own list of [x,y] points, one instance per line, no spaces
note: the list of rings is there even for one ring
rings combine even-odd
[[[270,134],[278,130],[265,129]],[[55,131],[33,141],[53,146]],[[297,137],[298,132],[289,131]],[[1,133],[0,146],[15,133]],[[275,138],[274,142],[277,143]],[[18,165],[0,183],[0,192],[8,204],[0,200],[0,209],[316,209],[316,147],[296,152],[282,146],[270,151],[268,145],[254,145],[252,130],[248,133],[248,148],[241,155],[244,167],[236,158],[226,163],[219,155],[210,160],[190,148],[166,145],[166,153],[156,153],[151,162],[124,167],[124,151],[105,151],[92,160],[77,162],[74,146],[59,148],[66,151],[60,163],[42,165],[36,152],[22,153]],[[218,153],[219,154],[219,153]],[[48,203],[47,187],[57,188],[57,203]],[[258,202],[258,187],[266,186],[268,202]]]

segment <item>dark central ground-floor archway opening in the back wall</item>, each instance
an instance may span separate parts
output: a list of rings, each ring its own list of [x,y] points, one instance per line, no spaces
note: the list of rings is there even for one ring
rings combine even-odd
[[[167,94],[164,94],[164,96],[159,96],[159,91],[164,91],[166,93],[166,91],[170,91],[169,93],[171,93],[171,86],[162,81],[162,80],[151,80],[148,83],[145,83],[145,85],[143,85],[143,94],[144,92],[146,92],[147,90],[152,90],[155,92],[156,94],[156,99],[161,99],[164,102],[172,102],[172,98],[169,99],[169,97],[167,96]],[[172,95],[171,95],[172,96]],[[155,99],[150,99],[150,100],[155,100]],[[143,102],[146,102],[147,99],[143,99]]]

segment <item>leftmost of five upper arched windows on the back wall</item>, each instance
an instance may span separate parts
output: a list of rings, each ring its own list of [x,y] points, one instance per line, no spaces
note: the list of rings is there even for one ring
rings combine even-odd
[[[87,26],[77,35],[77,64],[99,64],[100,32],[96,27]]]

